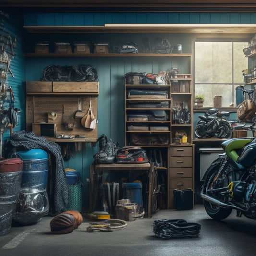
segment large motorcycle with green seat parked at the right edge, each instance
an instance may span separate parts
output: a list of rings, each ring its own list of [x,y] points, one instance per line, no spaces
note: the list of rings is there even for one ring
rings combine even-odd
[[[255,131],[255,123],[249,128]],[[207,214],[225,219],[232,209],[256,219],[256,138],[233,138],[221,144],[225,153],[207,169],[201,197]]]

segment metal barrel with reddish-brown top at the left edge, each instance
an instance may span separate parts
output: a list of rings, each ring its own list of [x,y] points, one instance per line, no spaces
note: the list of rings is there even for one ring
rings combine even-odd
[[[0,236],[10,232],[12,214],[21,186],[23,161],[11,158],[0,161]]]

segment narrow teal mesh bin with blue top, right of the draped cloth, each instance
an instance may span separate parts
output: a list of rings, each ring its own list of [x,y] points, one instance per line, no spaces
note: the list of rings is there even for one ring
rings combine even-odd
[[[68,210],[82,211],[82,183],[79,171],[66,168],[66,176],[68,180],[69,203]]]

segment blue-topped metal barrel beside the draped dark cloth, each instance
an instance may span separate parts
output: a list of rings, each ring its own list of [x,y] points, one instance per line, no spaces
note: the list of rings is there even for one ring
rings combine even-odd
[[[47,195],[48,154],[42,149],[18,151],[23,160],[19,198],[12,216],[13,225],[37,223],[49,211]]]

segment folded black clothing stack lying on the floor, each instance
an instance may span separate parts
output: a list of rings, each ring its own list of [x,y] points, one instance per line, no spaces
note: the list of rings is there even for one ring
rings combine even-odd
[[[201,225],[184,219],[161,219],[154,221],[153,232],[161,239],[198,237]]]

